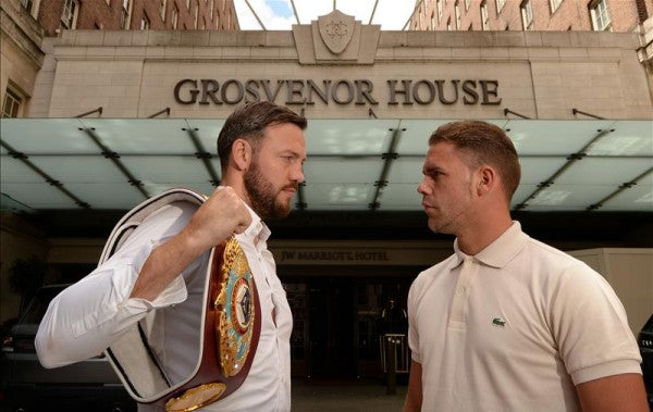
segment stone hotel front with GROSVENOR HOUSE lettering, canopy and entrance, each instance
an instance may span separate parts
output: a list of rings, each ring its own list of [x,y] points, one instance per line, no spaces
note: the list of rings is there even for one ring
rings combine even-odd
[[[340,12],[287,32],[62,30],[44,40],[28,118],[2,123],[2,193],[42,230],[48,282],[76,280],[125,210],[172,186],[213,190],[215,138],[235,107],[300,112],[307,182],[270,240],[294,313],[293,373],[378,376],[383,309],[405,307],[415,276],[452,252],[416,190],[428,136],[481,118],[520,154],[513,212],[527,233],[568,251],[637,249],[584,254],[609,267],[637,329],[653,310],[653,102],[640,41],[382,32]],[[10,223],[3,233],[24,227]]]

